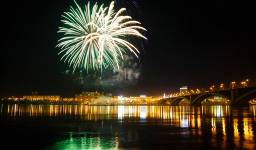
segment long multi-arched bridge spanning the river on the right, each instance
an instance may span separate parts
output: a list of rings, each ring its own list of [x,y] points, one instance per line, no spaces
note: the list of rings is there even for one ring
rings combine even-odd
[[[256,97],[256,86],[162,98],[159,100],[159,104],[165,104],[168,101],[170,105],[179,105],[179,102],[182,99],[186,99],[190,102],[190,105],[201,105],[201,102],[204,99],[212,95],[217,95],[229,99],[231,101],[231,105],[248,105],[248,101]]]

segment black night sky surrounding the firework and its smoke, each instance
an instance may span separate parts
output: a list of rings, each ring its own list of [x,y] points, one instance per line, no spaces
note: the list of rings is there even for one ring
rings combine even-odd
[[[110,4],[103,1],[105,6]],[[255,2],[151,1],[137,1],[142,14],[138,21],[148,38],[148,44],[143,43],[145,53],[138,47],[140,77],[133,84],[123,80],[122,86],[108,92],[157,96],[179,92],[185,85],[190,90],[256,81]],[[0,97],[29,95],[32,90],[61,97],[81,93],[74,79],[79,74],[63,73],[70,68],[60,61],[60,48],[55,47],[62,37],[57,33],[63,24],[61,15],[69,5],[75,6],[73,0],[13,0],[2,6]],[[126,6],[138,18],[134,5]]]

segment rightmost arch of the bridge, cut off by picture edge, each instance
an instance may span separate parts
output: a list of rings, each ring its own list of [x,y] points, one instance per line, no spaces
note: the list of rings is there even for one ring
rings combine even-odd
[[[256,97],[256,89],[250,90],[234,100],[234,105],[248,105],[248,101]]]

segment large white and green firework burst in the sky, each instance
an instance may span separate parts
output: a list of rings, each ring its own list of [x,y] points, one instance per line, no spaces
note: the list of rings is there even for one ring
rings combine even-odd
[[[87,71],[90,68],[102,69],[106,65],[115,66],[123,60],[123,53],[130,50],[138,57],[139,50],[127,41],[129,35],[145,38],[138,30],[146,30],[138,21],[130,20],[128,15],[121,15],[125,8],[115,12],[114,1],[109,8],[100,7],[97,3],[90,9],[90,2],[82,10],[75,2],[77,8],[70,8],[64,12],[63,21],[67,27],[59,27],[58,32],[64,32],[64,37],[56,47],[61,47],[64,53],[61,59],[67,61],[73,69],[78,66]]]

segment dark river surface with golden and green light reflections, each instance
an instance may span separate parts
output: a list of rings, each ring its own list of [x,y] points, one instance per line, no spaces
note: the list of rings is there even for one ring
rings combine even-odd
[[[0,106],[1,149],[256,149],[255,106]]]

